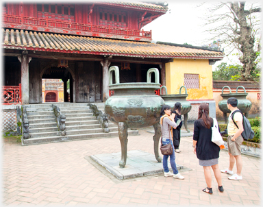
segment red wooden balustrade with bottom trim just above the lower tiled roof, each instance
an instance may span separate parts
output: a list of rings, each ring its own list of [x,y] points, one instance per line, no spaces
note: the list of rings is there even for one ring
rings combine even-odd
[[[122,29],[119,27],[105,27],[92,24],[73,23],[71,21],[57,21],[52,19],[40,19],[26,16],[14,16],[3,14],[3,27],[14,29],[32,29],[45,32],[60,32],[65,34],[80,34],[86,36],[114,38],[114,35],[122,35],[124,39],[132,39],[139,37],[136,40],[151,41],[151,32],[134,29]],[[86,34],[85,32],[90,32]],[[119,38],[119,37],[118,37]]]

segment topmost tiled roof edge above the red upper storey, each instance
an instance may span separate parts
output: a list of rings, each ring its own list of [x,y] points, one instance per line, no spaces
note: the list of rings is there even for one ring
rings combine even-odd
[[[157,10],[166,12],[168,10],[168,7],[164,7],[162,5],[157,5],[153,3],[146,3],[146,2],[140,2],[140,1],[97,1],[97,4],[107,4],[107,5],[122,5],[127,8],[135,8],[135,9],[147,9],[147,10]]]

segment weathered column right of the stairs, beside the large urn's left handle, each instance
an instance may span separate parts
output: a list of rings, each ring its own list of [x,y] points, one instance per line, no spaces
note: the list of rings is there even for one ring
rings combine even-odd
[[[105,102],[109,96],[109,66],[110,60],[104,59],[101,61],[102,65],[102,101]]]

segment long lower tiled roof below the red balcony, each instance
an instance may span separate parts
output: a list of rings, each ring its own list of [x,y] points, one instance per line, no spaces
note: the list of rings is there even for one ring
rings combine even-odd
[[[223,59],[221,51],[173,45],[2,29],[3,48],[145,58]]]

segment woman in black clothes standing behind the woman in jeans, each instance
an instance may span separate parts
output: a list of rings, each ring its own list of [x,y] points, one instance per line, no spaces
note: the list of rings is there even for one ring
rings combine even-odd
[[[178,119],[181,120],[181,103],[176,102],[175,107],[173,108],[172,112],[172,118],[175,120],[175,123],[177,123]],[[175,147],[175,152],[179,153],[181,150],[179,150],[180,140],[181,140],[181,125],[183,122],[179,123],[177,125],[176,129],[173,129],[173,146]]]

